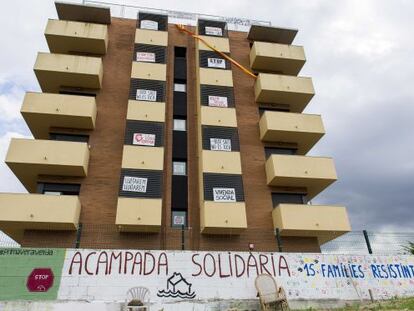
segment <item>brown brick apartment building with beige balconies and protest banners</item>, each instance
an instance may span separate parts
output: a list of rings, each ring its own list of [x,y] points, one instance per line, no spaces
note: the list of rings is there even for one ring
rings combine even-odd
[[[337,174],[307,156],[325,130],[296,30],[56,10],[21,108],[34,139],[6,157],[28,193],[0,194],[22,246],[318,252],[351,230],[309,204]]]

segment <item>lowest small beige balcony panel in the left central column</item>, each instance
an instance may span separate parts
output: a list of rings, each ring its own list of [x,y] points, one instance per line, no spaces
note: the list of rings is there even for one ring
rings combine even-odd
[[[161,228],[161,199],[118,198],[116,225],[124,232],[157,232]]]

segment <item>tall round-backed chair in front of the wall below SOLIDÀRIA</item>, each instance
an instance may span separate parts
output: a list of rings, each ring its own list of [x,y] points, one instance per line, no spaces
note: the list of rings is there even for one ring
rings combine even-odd
[[[262,310],[289,310],[285,290],[277,287],[275,279],[268,274],[256,277],[254,285],[259,294]]]

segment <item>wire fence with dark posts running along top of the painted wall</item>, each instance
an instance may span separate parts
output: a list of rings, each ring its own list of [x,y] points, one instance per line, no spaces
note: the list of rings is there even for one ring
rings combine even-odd
[[[132,230],[132,229],[130,229]],[[94,249],[167,249],[211,251],[279,251],[341,254],[408,254],[414,232],[352,231],[286,233],[248,228],[243,231],[201,233],[194,228],[162,228],[131,232],[111,225],[82,224],[77,231],[57,228],[26,230],[15,240],[0,232],[0,247],[55,247]]]

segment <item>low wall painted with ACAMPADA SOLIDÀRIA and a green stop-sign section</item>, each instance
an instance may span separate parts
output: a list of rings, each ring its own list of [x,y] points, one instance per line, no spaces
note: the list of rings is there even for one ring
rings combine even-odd
[[[39,252],[0,250],[1,300],[125,301],[128,290],[140,286],[149,289],[154,303],[257,299],[254,280],[262,273],[273,276],[291,300],[368,299],[369,290],[376,299],[414,295],[413,256],[88,249]],[[5,280],[13,289],[3,291]]]

